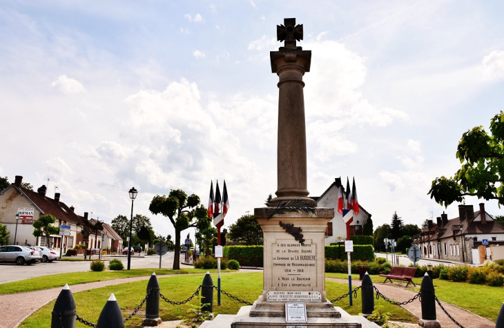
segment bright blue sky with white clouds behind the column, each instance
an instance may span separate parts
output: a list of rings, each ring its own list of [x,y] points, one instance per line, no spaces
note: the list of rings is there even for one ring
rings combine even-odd
[[[308,190],[355,177],[374,227],[443,211],[432,180],[503,110],[502,1],[1,1],[0,176],[110,223],[134,213],[157,234],[155,195],[208,203],[226,180],[224,227],[276,185],[276,25],[295,17],[304,75]],[[57,189],[55,187],[57,186]],[[474,204],[476,197],[466,197]],[[496,200],[487,212],[503,215]],[[335,232],[338,234],[337,232]],[[185,235],[185,232],[182,233]],[[192,233],[191,233],[192,235]]]

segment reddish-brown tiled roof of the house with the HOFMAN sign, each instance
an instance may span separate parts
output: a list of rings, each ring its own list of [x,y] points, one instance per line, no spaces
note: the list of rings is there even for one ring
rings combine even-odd
[[[14,186],[14,185],[12,185]],[[79,215],[75,214],[64,202],[57,202],[52,198],[46,197],[36,191],[31,191],[23,187],[14,186],[18,191],[21,191],[28,200],[35,204],[43,214],[50,214],[55,216],[55,218],[63,221],[70,221],[78,224],[82,224],[82,220]]]

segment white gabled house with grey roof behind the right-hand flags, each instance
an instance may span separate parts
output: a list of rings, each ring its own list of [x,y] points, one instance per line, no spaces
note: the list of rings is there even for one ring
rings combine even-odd
[[[320,197],[311,197],[316,200],[317,206],[334,209],[334,218],[327,224],[325,244],[329,245],[336,240],[347,238],[347,225],[343,221],[343,215],[338,212],[338,191],[341,186],[341,179],[337,177]],[[343,188],[345,193],[345,188]],[[359,204],[359,213],[353,215],[353,222],[350,224],[350,235],[362,235],[362,227],[366,224],[368,218],[371,218],[365,209]]]

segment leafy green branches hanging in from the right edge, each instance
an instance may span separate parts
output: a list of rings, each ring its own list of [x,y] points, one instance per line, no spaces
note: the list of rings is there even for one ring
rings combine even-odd
[[[463,196],[498,200],[504,205],[504,112],[490,120],[489,135],[483,126],[463,133],[456,158],[462,167],[454,177],[436,177],[429,193],[436,202],[447,207],[462,202]]]

